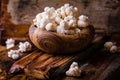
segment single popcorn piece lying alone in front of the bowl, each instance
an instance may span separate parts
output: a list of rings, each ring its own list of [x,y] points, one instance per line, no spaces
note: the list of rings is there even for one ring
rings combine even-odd
[[[79,69],[78,63],[73,62],[68,71],[66,71],[67,76],[80,76],[81,70]]]

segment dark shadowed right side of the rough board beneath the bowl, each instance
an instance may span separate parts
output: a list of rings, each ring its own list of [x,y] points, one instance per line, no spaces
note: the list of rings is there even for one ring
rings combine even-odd
[[[92,45],[91,47],[87,48],[87,50],[79,53],[78,55],[76,55],[74,58],[70,59],[68,63],[62,65],[59,67],[59,69],[57,69],[52,75],[52,78],[56,78],[58,77],[58,75],[65,75],[65,72],[68,70],[70,64],[73,61],[76,62],[81,62],[81,63],[85,63],[87,61],[89,61],[93,56],[96,56],[98,54],[96,54],[96,52],[98,50],[100,50],[100,48],[103,47],[104,42],[106,41],[106,39],[102,39],[101,41],[99,41],[98,43],[95,43],[94,45]]]

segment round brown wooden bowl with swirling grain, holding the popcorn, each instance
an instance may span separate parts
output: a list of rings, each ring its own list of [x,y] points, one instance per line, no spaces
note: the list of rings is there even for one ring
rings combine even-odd
[[[48,32],[31,25],[29,37],[40,50],[51,54],[70,54],[87,47],[94,38],[95,30],[89,25],[79,34],[66,35]]]

